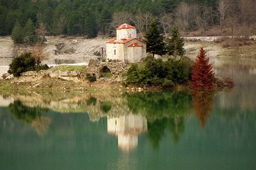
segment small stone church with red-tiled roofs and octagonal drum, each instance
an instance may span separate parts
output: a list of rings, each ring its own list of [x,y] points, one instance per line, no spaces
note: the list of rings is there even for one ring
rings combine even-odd
[[[106,58],[140,62],[146,56],[146,43],[137,38],[136,28],[122,24],[116,28],[116,39],[106,43]]]

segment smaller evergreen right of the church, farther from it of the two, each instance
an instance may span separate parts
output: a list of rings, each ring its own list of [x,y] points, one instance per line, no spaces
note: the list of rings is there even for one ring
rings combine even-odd
[[[173,55],[174,58],[176,58],[177,55],[183,56],[185,53],[183,48],[184,39],[180,37],[179,29],[177,27],[173,27],[171,36],[172,38],[166,40],[166,50],[168,55]]]

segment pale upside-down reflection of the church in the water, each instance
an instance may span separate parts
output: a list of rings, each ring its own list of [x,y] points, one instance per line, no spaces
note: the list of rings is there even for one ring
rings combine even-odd
[[[118,147],[129,151],[138,146],[138,135],[147,132],[147,119],[141,115],[108,117],[108,133],[118,136]]]

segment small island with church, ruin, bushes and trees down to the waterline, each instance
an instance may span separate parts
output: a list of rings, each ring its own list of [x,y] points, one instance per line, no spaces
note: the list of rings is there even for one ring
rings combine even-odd
[[[116,38],[106,43],[106,58],[91,59],[88,66],[49,69],[46,64],[41,64],[47,57],[38,50],[38,46],[44,46],[44,41],[31,53],[24,53],[13,60],[8,73],[14,78],[4,74],[3,78],[7,80],[0,81],[1,90],[154,91],[209,87],[218,91],[233,86],[230,79],[215,78],[203,48],[194,63],[184,56],[184,39],[179,29],[174,27],[170,38],[164,40],[157,22],[150,25],[145,42],[137,38],[134,26],[120,25],[116,28]],[[167,57],[163,58],[163,55]],[[65,71],[61,71],[63,68]]]

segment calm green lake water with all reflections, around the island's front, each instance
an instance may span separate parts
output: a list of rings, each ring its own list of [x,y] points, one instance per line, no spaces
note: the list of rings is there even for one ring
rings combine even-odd
[[[218,94],[0,96],[0,169],[256,169],[253,59],[220,60]]]

